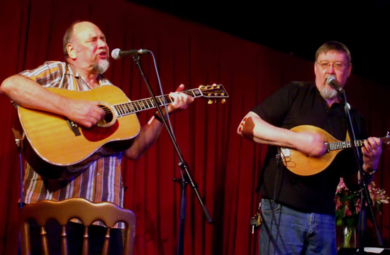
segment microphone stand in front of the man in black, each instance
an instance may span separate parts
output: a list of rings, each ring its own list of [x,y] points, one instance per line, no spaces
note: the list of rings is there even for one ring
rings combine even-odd
[[[360,215],[359,215],[359,227],[358,227],[358,229],[359,229],[359,252],[357,254],[365,254],[364,253],[364,232],[366,230],[366,201],[367,201],[367,205],[368,205],[369,210],[370,210],[371,215],[372,215],[372,220],[374,222],[375,229],[377,231],[377,239],[378,239],[379,246],[383,247],[384,244],[383,244],[383,240],[381,238],[381,233],[379,232],[379,229],[377,227],[377,221],[374,217],[374,211],[372,210],[372,199],[369,195],[369,190],[368,190],[367,184],[364,180],[365,175],[363,173],[364,170],[362,169],[362,165],[361,165],[361,162],[363,162],[362,156],[360,154],[359,148],[357,148],[357,146],[355,144],[355,141],[356,141],[355,131],[353,129],[352,119],[350,116],[350,107],[349,107],[349,104],[347,104],[347,97],[345,96],[344,89],[338,90],[338,101],[340,102],[342,107],[344,107],[345,117],[347,119],[347,129],[348,129],[348,132],[350,134],[351,148],[352,148],[352,151],[354,151],[355,160],[356,160],[358,170],[360,173],[360,182],[359,182],[359,184],[360,184],[360,201],[361,201],[360,204],[362,207],[360,209]]]

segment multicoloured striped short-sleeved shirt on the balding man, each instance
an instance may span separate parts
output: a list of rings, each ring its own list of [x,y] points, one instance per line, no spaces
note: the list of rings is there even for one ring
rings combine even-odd
[[[63,62],[48,61],[34,70],[26,70],[20,74],[43,87],[79,91],[91,89],[72,65]],[[99,75],[98,80],[99,85],[113,86],[103,75]],[[23,202],[30,204],[40,200],[60,201],[82,197],[91,202],[113,202],[123,207],[122,156],[123,153],[116,153],[99,158],[81,174],[67,180],[44,178],[26,163]],[[122,224],[120,227],[123,227]]]

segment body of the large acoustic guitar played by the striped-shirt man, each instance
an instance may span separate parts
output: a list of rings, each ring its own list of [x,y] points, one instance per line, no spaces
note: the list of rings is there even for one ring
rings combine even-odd
[[[121,89],[111,85],[83,92],[48,89],[65,97],[104,102],[105,105],[130,102]],[[20,106],[18,117],[25,136],[26,160],[38,173],[43,171],[40,174],[57,179],[76,175],[96,158],[129,148],[140,131],[136,114],[122,116],[111,126],[91,129],[81,126],[72,129],[64,116]]]

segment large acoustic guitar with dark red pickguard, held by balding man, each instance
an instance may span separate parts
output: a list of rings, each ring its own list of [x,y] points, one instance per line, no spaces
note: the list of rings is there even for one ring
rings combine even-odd
[[[35,171],[48,178],[70,178],[97,158],[130,148],[140,131],[135,113],[156,107],[152,98],[130,102],[121,89],[112,85],[88,91],[48,89],[65,97],[99,102],[106,112],[103,121],[87,129],[65,116],[18,106],[23,155]],[[224,102],[228,97],[222,85],[202,85],[184,93],[194,98],[206,97],[211,102]],[[173,102],[169,95],[163,97],[157,97],[158,107]]]

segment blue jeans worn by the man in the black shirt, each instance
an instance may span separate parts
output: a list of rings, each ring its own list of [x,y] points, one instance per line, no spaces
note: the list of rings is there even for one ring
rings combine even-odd
[[[335,217],[306,213],[262,199],[260,255],[335,255]]]

